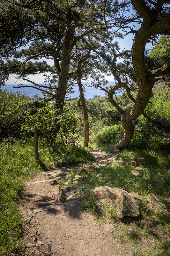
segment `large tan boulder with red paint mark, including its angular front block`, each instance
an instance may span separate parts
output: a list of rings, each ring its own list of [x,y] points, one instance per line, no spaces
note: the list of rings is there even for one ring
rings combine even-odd
[[[130,190],[129,190],[130,191]],[[142,201],[137,193],[128,192],[121,188],[110,188],[100,186],[93,190],[100,201],[105,201],[109,205],[119,207],[117,217],[130,216],[137,218],[139,216],[139,204]]]

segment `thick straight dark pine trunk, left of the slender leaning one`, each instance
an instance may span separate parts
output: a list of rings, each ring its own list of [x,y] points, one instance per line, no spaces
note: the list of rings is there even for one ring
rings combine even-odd
[[[62,60],[61,60],[61,72],[59,75],[59,82],[58,82],[58,91],[55,95],[55,110],[58,109],[56,114],[63,112],[65,94],[67,90],[67,83],[68,83],[68,73],[70,67],[70,54],[71,54],[71,44],[72,39],[75,31],[75,26],[65,31],[64,42],[63,42],[63,49],[62,49]]]

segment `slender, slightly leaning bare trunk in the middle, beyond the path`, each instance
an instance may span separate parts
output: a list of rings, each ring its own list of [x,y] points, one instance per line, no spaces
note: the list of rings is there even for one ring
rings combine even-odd
[[[88,114],[87,114],[87,107],[85,104],[85,96],[83,92],[83,86],[82,86],[82,72],[81,69],[78,67],[78,88],[80,91],[80,97],[81,97],[81,103],[82,103],[82,108],[83,108],[83,115],[84,115],[84,120],[85,120],[85,140],[84,140],[84,146],[88,147],[89,145],[89,119],[88,119]]]

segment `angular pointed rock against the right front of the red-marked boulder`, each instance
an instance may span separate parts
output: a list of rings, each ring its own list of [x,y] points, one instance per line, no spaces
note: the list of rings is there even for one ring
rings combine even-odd
[[[138,218],[140,215],[138,205],[124,190],[116,198],[115,207],[118,208],[118,218],[123,218],[124,216]]]

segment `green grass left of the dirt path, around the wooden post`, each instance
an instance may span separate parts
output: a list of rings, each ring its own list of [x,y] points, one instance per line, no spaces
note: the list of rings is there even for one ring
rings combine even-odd
[[[39,164],[35,160],[33,139],[29,142],[0,144],[0,255],[10,255],[20,246],[22,219],[17,202],[23,198],[22,179],[33,177],[54,164],[76,164],[91,161],[94,157],[85,148],[60,142],[49,146],[45,140],[38,141]],[[70,160],[64,158],[70,156]],[[64,198],[63,198],[64,200]]]

